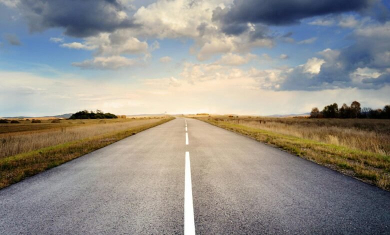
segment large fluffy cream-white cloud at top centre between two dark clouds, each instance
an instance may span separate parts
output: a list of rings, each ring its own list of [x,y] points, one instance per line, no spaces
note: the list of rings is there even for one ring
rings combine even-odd
[[[213,9],[224,8],[233,0],[157,0],[140,7],[134,14],[134,22],[142,25],[131,29],[135,35],[157,38],[193,38],[191,51],[199,60],[215,54],[249,52],[254,47],[271,47],[273,40],[266,37],[253,38],[256,29],[241,35],[226,35],[218,22],[212,20]],[[168,11],[166,9],[169,9]]]

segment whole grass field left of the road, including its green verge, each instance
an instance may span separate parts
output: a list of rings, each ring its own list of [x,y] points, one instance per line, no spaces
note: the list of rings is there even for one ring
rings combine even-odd
[[[0,124],[0,188],[173,117]]]

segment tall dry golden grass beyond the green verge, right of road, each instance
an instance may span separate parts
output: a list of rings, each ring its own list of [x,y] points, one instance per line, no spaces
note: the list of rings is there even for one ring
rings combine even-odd
[[[390,120],[216,117],[229,123],[390,155]]]

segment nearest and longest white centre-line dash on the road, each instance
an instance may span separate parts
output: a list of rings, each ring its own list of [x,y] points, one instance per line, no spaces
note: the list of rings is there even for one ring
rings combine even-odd
[[[185,183],[184,183],[184,235],[195,234],[195,222],[193,219],[191,166],[189,164],[189,152],[185,152]]]

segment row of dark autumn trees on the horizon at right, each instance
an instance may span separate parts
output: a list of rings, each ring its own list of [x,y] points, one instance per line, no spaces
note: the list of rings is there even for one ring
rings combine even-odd
[[[310,118],[376,118],[390,119],[390,105],[385,105],[383,108],[372,109],[370,107],[360,107],[360,103],[356,100],[350,106],[343,103],[338,108],[337,103],[329,104],[319,111],[317,107],[313,107],[310,112]]]

